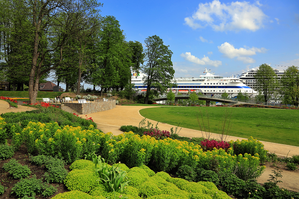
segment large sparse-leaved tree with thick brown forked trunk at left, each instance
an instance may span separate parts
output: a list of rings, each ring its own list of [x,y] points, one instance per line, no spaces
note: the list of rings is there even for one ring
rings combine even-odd
[[[80,22],[88,22],[97,17],[97,7],[102,4],[95,0],[19,0],[11,1],[15,9],[5,7],[6,12],[21,13],[29,23],[20,24],[17,29],[26,30],[24,36],[30,38],[32,54],[29,72],[29,98],[36,101],[39,80],[50,70],[56,69],[62,60],[63,47],[70,36],[83,29]],[[80,16],[84,16],[82,19]],[[29,25],[28,25],[29,24]],[[54,54],[59,52],[59,58]]]

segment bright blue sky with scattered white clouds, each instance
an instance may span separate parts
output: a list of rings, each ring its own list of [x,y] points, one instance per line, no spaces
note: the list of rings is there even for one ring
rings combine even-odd
[[[175,77],[197,77],[205,67],[224,77],[264,63],[299,67],[298,0],[100,2],[127,41],[162,38]]]

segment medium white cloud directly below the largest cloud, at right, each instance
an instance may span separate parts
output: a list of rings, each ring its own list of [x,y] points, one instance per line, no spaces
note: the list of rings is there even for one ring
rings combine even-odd
[[[237,58],[237,60],[243,61],[244,63],[254,63],[255,60],[253,58],[250,58],[249,56],[256,55],[256,53],[266,53],[267,51],[266,48],[256,48],[256,47],[249,48],[247,46],[245,46],[245,48],[237,49],[228,42],[225,42],[224,44],[218,46],[218,50],[225,57],[231,59]]]

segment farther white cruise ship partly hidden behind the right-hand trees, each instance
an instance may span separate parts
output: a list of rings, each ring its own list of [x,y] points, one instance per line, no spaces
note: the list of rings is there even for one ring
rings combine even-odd
[[[269,65],[270,66],[270,65]],[[257,70],[258,69],[254,69],[252,68],[251,70],[247,70],[247,72],[243,71],[243,73],[239,76],[239,79],[241,79],[240,81],[245,84],[246,86],[257,90],[257,86],[256,86],[256,79],[255,79],[255,75],[257,74]],[[284,74],[283,70],[278,70],[278,69],[274,69],[275,74],[277,75],[276,79],[278,79],[278,81],[280,81],[281,77]]]

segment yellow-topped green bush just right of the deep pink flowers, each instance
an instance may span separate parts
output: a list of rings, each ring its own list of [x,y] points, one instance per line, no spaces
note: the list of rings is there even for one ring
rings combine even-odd
[[[266,154],[267,150],[264,149],[263,143],[258,141],[257,139],[253,139],[252,136],[250,136],[247,140],[242,141],[231,141],[230,144],[234,146],[234,154],[242,154],[245,153],[255,155],[256,153],[259,155],[260,162],[265,163],[266,161]]]

